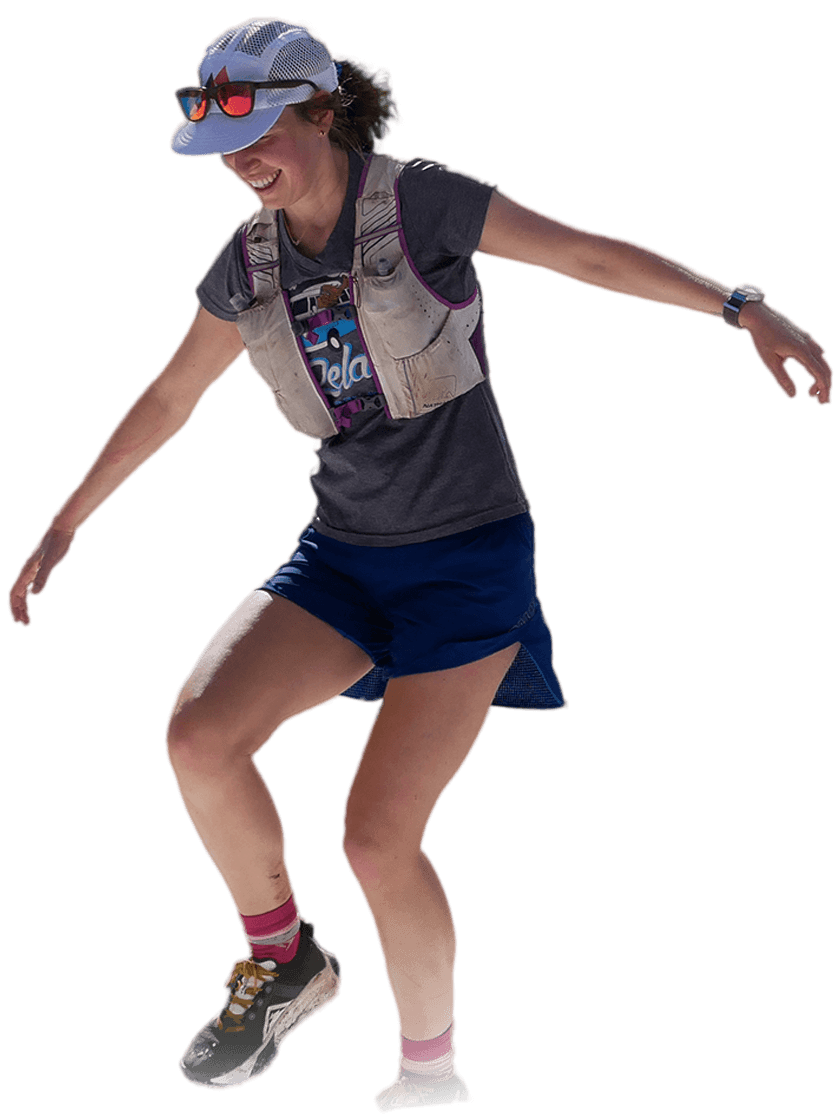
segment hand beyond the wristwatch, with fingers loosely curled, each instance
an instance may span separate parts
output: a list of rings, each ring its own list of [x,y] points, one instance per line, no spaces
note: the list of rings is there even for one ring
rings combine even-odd
[[[808,395],[820,407],[831,403],[834,374],[825,350],[812,334],[766,303],[745,303],[738,317],[750,334],[758,360],[789,400],[796,398],[798,389],[786,365],[789,361],[795,361],[813,381]]]

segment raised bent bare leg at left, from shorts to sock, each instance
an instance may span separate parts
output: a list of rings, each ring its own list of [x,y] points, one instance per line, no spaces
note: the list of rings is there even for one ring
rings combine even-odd
[[[280,725],[362,678],[370,658],[284,598],[249,594],[175,696],[166,753],[181,801],[237,911],[292,895],[286,834],[255,761]]]

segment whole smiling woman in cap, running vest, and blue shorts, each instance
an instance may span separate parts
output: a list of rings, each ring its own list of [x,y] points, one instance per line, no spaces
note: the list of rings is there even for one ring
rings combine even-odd
[[[260,211],[218,254],[184,340],[52,517],[10,604],[28,624],[29,594],[78,527],[247,345],[281,413],[323,441],[298,546],[204,649],[168,726],[182,801],[249,948],[181,1069],[197,1085],[242,1085],[337,995],[337,958],[300,918],[254,757],[280,725],[338,695],[381,699],[347,795],[344,852],[399,1016],[398,1076],[376,1096],[385,1111],[469,1099],[454,1060],[455,926],[422,848],[430,817],[491,705],[565,705],[527,498],[486,375],[472,254],[725,314],[789,395],[786,360],[812,378],[819,403],[830,402],[831,370],[757,288],[735,294],[439,164],[367,159],[395,104],[381,75],[340,64],[341,74],[306,28],[249,20],[213,40],[199,85],[179,90],[173,150],[220,155]]]

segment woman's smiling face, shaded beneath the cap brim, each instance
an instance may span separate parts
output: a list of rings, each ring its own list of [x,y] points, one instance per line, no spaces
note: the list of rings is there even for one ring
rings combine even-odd
[[[288,209],[316,191],[324,172],[330,142],[319,128],[330,126],[302,121],[289,106],[250,147],[221,155],[222,163],[268,209]]]

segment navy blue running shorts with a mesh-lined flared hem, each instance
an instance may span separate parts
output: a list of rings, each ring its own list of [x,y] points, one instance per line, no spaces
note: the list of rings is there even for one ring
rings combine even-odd
[[[389,679],[460,667],[519,642],[493,705],[569,705],[536,592],[529,513],[397,547],[342,543],[305,527],[256,589],[294,601],[370,656],[375,666],[343,698],[380,701]]]

